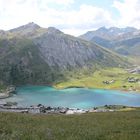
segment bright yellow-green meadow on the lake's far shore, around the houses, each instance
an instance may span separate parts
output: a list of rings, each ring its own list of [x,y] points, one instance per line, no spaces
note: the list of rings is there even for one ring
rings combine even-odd
[[[88,87],[88,88],[103,88],[103,89],[121,89],[129,90],[136,89],[140,90],[140,83],[129,83],[128,77],[140,78],[140,75],[130,74],[121,68],[107,68],[98,70],[90,75],[84,76],[83,73],[76,74],[76,77],[69,76],[69,80],[63,83],[55,85],[56,88],[67,88],[67,87]],[[103,84],[103,81],[110,81],[114,79],[115,83]],[[123,86],[126,86],[123,88]]]

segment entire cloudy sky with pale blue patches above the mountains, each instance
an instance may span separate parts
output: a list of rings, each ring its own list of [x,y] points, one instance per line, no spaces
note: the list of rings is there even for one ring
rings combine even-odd
[[[140,0],[0,0],[0,29],[29,22],[75,36],[101,26],[140,28]]]

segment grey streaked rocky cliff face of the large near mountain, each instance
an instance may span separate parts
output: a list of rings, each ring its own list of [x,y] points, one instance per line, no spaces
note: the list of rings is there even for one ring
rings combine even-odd
[[[95,44],[74,38],[63,33],[45,33],[34,39],[42,58],[50,66],[66,68],[67,66],[86,66],[88,62],[108,59],[106,50]],[[108,54],[110,55],[110,54]]]

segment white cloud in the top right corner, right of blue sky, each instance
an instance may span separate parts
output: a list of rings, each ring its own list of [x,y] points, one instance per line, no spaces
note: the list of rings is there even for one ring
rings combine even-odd
[[[140,28],[140,1],[124,0],[114,1],[113,6],[120,12],[121,18],[117,21],[119,26],[134,26]]]

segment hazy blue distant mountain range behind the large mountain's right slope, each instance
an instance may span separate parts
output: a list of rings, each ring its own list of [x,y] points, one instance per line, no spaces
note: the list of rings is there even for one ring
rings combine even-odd
[[[140,30],[133,27],[101,27],[95,31],[88,31],[80,38],[123,55],[140,55]]]

